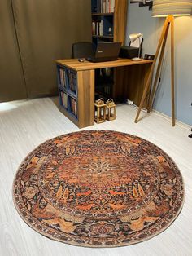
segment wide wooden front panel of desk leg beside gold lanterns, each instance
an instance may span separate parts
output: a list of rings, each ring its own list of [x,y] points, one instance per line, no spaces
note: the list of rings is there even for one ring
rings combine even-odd
[[[94,70],[77,72],[79,128],[94,125]]]

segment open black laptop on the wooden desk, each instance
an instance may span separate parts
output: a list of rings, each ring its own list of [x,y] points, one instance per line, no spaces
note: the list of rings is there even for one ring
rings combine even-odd
[[[121,42],[98,42],[94,56],[87,58],[91,62],[117,60]]]

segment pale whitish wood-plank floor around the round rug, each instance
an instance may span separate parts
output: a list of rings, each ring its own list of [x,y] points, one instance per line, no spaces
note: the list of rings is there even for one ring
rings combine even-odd
[[[53,99],[33,99],[0,104],[0,255],[16,256],[169,256],[192,255],[192,139],[190,127],[176,126],[152,113],[134,124],[136,109],[117,108],[116,121],[94,125],[87,130],[117,130],[140,136],[168,153],[185,180],[185,205],[177,220],[166,231],[149,241],[115,249],[89,249],[65,245],[41,236],[28,227],[17,214],[11,189],[14,175],[24,157],[57,135],[77,131]],[[142,116],[144,113],[142,113]]]

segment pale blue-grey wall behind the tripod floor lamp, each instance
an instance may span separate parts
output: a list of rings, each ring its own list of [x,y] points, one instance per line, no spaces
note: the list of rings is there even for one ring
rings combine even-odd
[[[164,18],[151,17],[148,7],[129,4],[126,44],[130,33],[143,33],[143,54],[155,54]],[[192,17],[175,19],[175,87],[176,118],[192,125]],[[171,116],[170,37],[165,51],[162,80],[155,97],[154,108]]]

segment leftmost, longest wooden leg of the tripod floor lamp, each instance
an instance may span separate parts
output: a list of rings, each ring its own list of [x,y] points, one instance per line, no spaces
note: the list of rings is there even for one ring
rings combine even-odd
[[[139,108],[138,108],[138,110],[137,110],[137,115],[136,115],[136,117],[135,117],[135,122],[136,122],[136,123],[137,123],[138,117],[139,117],[139,115],[140,115],[140,113],[141,113],[142,105],[143,105],[143,103],[144,103],[144,100],[146,99],[146,94],[147,94],[147,92],[148,92],[148,90],[149,90],[149,87],[151,86],[152,74],[153,74],[153,71],[154,71],[154,68],[155,68],[155,64],[156,64],[156,61],[157,61],[157,58],[158,58],[158,55],[159,55],[159,51],[160,51],[161,46],[162,46],[162,43],[163,43],[163,41],[164,41],[164,36],[165,36],[165,33],[166,33],[166,30],[167,30],[167,27],[168,27],[169,22],[170,22],[170,17],[168,16],[167,19],[165,20],[164,28],[163,28],[163,31],[162,31],[162,33],[161,33],[161,37],[160,37],[160,40],[159,40],[159,44],[158,44],[158,46],[157,46],[157,51],[156,51],[156,53],[155,53],[155,59],[154,59],[153,64],[152,64],[152,66],[151,66],[151,72],[150,72],[150,74],[149,74],[149,77],[148,77],[147,82],[146,82],[145,89],[144,89],[143,94],[142,94],[142,100],[141,100],[140,105],[139,105]]]

